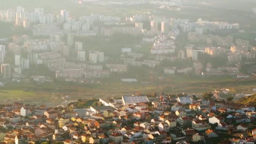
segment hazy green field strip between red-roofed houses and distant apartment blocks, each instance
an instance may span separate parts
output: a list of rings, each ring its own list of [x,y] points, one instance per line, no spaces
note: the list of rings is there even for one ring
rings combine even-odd
[[[144,82],[141,78],[137,78]],[[252,93],[256,78],[237,80],[229,77],[169,77],[165,80],[148,79],[144,83],[121,83],[120,79],[101,79],[102,84],[81,83],[9,83],[0,89],[0,98],[11,103],[13,101],[35,102],[38,104],[57,105],[64,102],[61,97],[69,96],[68,101],[77,99],[120,98],[128,94],[195,93],[198,96],[216,88],[229,88],[236,93]],[[50,100],[50,101],[49,101]]]

